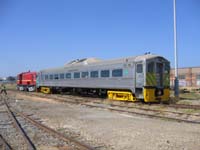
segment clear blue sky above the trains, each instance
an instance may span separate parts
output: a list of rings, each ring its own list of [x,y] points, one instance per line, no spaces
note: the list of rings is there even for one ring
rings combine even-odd
[[[199,8],[177,0],[179,67],[200,66]],[[0,0],[0,77],[149,51],[174,67],[173,0]]]

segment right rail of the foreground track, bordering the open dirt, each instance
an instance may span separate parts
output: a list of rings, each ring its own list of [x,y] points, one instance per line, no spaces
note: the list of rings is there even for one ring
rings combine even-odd
[[[93,147],[91,147],[91,146],[89,146],[89,145],[87,145],[87,144],[85,144],[85,143],[79,142],[79,141],[77,141],[77,140],[75,140],[75,139],[73,139],[73,138],[66,137],[66,136],[64,136],[63,134],[61,134],[61,133],[55,131],[54,129],[49,128],[49,127],[47,127],[47,126],[45,126],[45,125],[43,125],[43,124],[41,124],[41,123],[39,123],[39,122],[33,120],[32,118],[28,117],[27,115],[25,115],[25,114],[23,114],[23,113],[21,113],[21,112],[15,110],[15,109],[13,109],[13,108],[12,108],[12,111],[15,112],[16,114],[20,115],[20,116],[23,117],[24,119],[26,119],[27,121],[29,121],[29,122],[32,123],[33,125],[35,125],[35,126],[41,128],[41,129],[45,130],[46,132],[51,133],[51,134],[54,135],[55,137],[57,137],[57,138],[59,138],[59,139],[65,141],[65,142],[72,142],[72,143],[75,143],[76,145],[78,145],[80,148],[82,148],[82,149],[84,149],[84,150],[94,150]]]

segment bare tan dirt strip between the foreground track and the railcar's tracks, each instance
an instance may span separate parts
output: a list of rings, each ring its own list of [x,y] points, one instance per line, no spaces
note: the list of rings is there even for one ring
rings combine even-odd
[[[19,94],[14,97],[14,106],[19,110],[36,114],[43,123],[56,130],[70,130],[99,145],[98,149],[200,149],[198,124],[152,119]]]

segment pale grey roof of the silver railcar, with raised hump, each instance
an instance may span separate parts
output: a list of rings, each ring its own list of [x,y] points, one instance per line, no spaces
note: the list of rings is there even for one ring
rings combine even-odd
[[[82,67],[82,66],[86,66],[86,65],[90,65],[90,66],[104,65],[104,64],[113,64],[113,63],[123,63],[126,61],[138,62],[138,61],[143,61],[146,59],[153,59],[156,57],[162,57],[162,56],[154,55],[154,54],[145,54],[145,55],[140,55],[140,56],[124,57],[124,58],[120,58],[120,59],[109,59],[109,60],[101,60],[101,59],[97,59],[97,58],[84,58],[84,59],[73,60],[73,61],[65,64],[62,67],[43,69],[41,71],[42,72],[49,72],[49,71],[54,72],[54,71],[59,71],[64,68]]]

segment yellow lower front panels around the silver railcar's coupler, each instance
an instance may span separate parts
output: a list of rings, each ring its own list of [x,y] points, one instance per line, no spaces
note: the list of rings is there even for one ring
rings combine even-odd
[[[169,88],[164,88],[162,95],[156,95],[156,88],[144,88],[144,101],[145,102],[167,102],[170,97]]]

